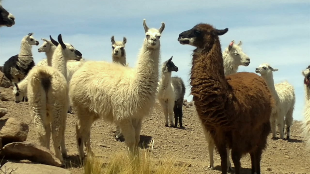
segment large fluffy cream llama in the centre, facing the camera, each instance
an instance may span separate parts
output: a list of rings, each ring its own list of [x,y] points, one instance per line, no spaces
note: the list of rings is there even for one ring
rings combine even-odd
[[[77,145],[84,159],[83,144],[90,146],[91,125],[95,120],[114,122],[122,130],[126,146],[138,152],[142,119],[155,104],[161,33],[148,28],[143,20],[145,39],[135,68],[106,61],[88,61],[78,69],[69,83],[70,102],[78,116]],[[83,85],[88,84],[88,85]]]

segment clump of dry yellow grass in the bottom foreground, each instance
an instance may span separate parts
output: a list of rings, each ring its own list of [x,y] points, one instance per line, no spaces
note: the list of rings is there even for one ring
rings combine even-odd
[[[154,141],[151,141],[152,151]],[[181,174],[188,164],[178,164],[177,158],[166,155],[160,160],[154,160],[152,151],[143,148],[137,156],[127,152],[112,155],[109,163],[99,157],[87,156],[84,163],[85,174]]]

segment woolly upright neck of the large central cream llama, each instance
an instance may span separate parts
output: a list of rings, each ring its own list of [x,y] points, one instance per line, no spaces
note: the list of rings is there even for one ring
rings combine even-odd
[[[137,64],[137,88],[139,91],[147,92],[145,95],[155,96],[158,86],[160,50],[148,49],[145,45],[140,50]]]

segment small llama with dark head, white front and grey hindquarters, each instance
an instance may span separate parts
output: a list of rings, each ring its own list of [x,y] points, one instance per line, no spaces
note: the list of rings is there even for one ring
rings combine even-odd
[[[179,117],[179,123],[180,127],[182,128],[182,106],[183,106],[183,98],[185,94],[185,86],[181,79],[181,81],[177,80],[180,79],[179,77],[172,77],[171,78],[171,72],[175,71],[178,72],[178,67],[175,66],[175,64],[171,61],[172,57],[165,61],[162,64],[162,78],[158,83],[158,94],[157,99],[162,106],[162,110],[165,115],[165,126],[170,127],[177,127],[178,125],[178,116]],[[179,83],[180,82],[180,83]],[[184,92],[184,94],[183,94]],[[177,100],[182,100],[181,105],[181,114],[179,115],[179,110],[177,109],[180,107],[178,104],[181,101],[178,101],[177,105],[175,105],[175,102]],[[175,124],[173,125],[172,115],[175,114]],[[169,116],[169,122],[168,122],[168,116]]]

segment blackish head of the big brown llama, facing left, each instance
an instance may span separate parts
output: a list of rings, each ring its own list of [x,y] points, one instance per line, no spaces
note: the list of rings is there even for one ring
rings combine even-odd
[[[191,45],[200,49],[210,50],[218,36],[227,33],[228,28],[215,29],[210,24],[197,24],[193,28],[179,34],[178,41],[182,45]]]

